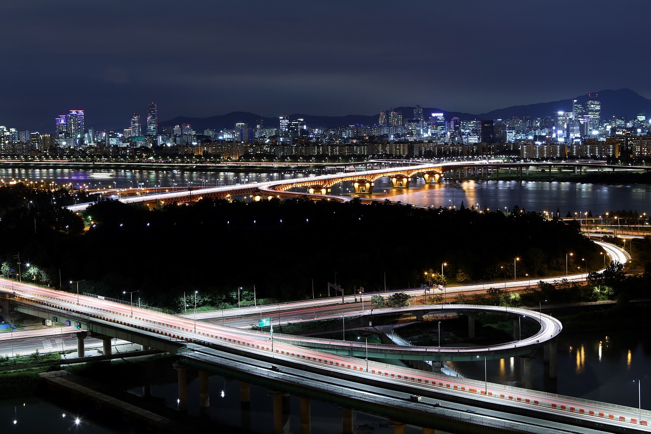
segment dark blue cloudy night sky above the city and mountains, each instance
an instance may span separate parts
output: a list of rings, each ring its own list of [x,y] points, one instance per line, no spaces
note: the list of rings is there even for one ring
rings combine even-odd
[[[3,0],[0,124],[53,132],[230,111],[483,113],[628,87],[651,97],[651,1]]]

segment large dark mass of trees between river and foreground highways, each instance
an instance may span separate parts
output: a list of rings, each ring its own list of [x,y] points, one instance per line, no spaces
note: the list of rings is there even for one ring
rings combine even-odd
[[[424,272],[466,283],[594,270],[603,258],[576,222],[545,220],[515,207],[503,212],[419,209],[359,201],[202,199],[191,205],[144,206],[103,201],[76,216],[23,187],[0,188],[3,274],[52,287],[124,298],[178,310],[183,293],[199,303],[237,304],[347,294],[427,283]],[[40,195],[40,196],[39,196]],[[39,197],[37,197],[39,196]],[[31,203],[28,203],[29,201]],[[281,222],[282,220],[282,222]],[[92,222],[92,223],[91,223]],[[86,227],[86,229],[84,229]],[[586,259],[582,261],[581,259]],[[31,263],[31,268],[25,264]],[[61,277],[60,277],[61,276]],[[431,282],[430,282],[431,283]],[[331,295],[335,295],[334,292]],[[128,297],[128,295],[126,295]],[[127,298],[128,299],[128,298]]]

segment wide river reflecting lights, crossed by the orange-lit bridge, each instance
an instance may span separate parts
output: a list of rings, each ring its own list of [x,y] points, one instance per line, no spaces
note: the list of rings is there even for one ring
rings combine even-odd
[[[254,181],[303,178],[308,171],[256,173],[251,171],[175,171],[175,170],[100,170],[96,172],[73,169],[7,169],[0,168],[0,179],[44,179],[58,183],[72,182],[74,187],[156,188],[156,186],[220,186]],[[348,195],[352,182],[342,182],[332,188],[332,194]],[[354,195],[354,194],[351,194]],[[374,194],[359,195],[375,199],[391,199],[424,207],[456,207],[511,210],[515,205],[530,211],[560,212],[564,217],[592,211],[596,217],[605,210],[637,210],[646,212],[651,203],[651,188],[647,185],[581,184],[575,182],[462,181],[426,184],[412,180],[409,188],[393,188],[388,178],[380,178]]]

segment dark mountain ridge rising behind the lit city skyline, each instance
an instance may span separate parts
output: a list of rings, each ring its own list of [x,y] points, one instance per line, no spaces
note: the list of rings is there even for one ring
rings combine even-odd
[[[648,115],[651,115],[651,100],[631,91],[631,89],[618,89],[616,91],[607,89],[596,93],[599,95],[599,100],[602,103],[602,119],[610,119],[613,116],[624,116],[626,119],[632,119],[637,116],[637,113],[640,111],[644,111]],[[430,113],[444,113],[446,119],[458,117],[462,120],[508,119],[512,116],[542,118],[553,116],[559,110],[571,111],[572,100],[577,100],[585,108],[588,94],[560,101],[540,102],[538,104],[528,104],[526,106],[512,106],[477,115],[460,111],[447,111],[439,108],[422,108],[422,113],[425,118],[429,117]],[[396,107],[393,109],[402,112],[404,119],[409,119],[413,116],[413,107]],[[305,119],[305,123],[313,127],[320,126],[325,128],[335,128],[337,126],[352,124],[370,126],[378,123],[379,114],[380,113],[376,115],[318,116],[294,113],[289,115],[289,117],[290,120]],[[266,128],[278,128],[279,126],[278,117],[262,117],[247,111],[233,111],[225,115],[211,117],[175,117],[169,121],[161,122],[160,126],[162,128],[169,128],[174,125],[190,124],[195,131],[202,134],[206,129],[212,129],[215,131],[231,129],[238,122],[247,123],[250,127],[255,127],[256,124],[260,123],[260,121],[262,121],[262,125]]]

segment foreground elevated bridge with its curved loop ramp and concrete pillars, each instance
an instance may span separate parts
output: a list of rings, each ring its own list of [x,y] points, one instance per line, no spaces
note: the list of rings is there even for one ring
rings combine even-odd
[[[225,366],[233,368],[232,364],[243,366],[239,375],[247,377],[270,377],[269,369],[251,370],[251,364],[273,364],[282,371],[283,381],[289,381],[293,371],[309,372],[308,376],[320,375],[329,377],[327,384],[312,381],[308,395],[322,393],[332,394],[333,379],[339,379],[346,384],[362,384],[356,388],[348,386],[347,394],[350,398],[359,392],[359,396],[368,394],[368,386],[381,387],[384,390],[393,390],[400,394],[409,392],[431,399],[445,399],[454,405],[472,405],[478,412],[500,411],[508,414],[500,422],[510,426],[514,420],[518,422],[523,415],[541,421],[560,423],[566,426],[583,426],[586,429],[607,429],[613,432],[625,432],[631,427],[643,431],[651,431],[647,421],[651,412],[600,403],[582,399],[545,394],[524,388],[512,388],[486,381],[473,381],[467,379],[450,379],[429,371],[400,368],[390,364],[383,364],[368,358],[387,357],[413,358],[421,360],[442,360],[452,356],[452,353],[465,353],[467,357],[488,358],[491,354],[508,354],[518,351],[531,352],[536,345],[551,340],[560,332],[560,323],[553,317],[548,317],[541,312],[511,310],[506,311],[513,315],[529,315],[541,324],[541,330],[527,340],[505,343],[502,347],[495,346],[484,349],[441,348],[436,347],[395,347],[392,345],[369,344],[369,357],[361,356],[367,351],[366,347],[357,345],[352,351],[352,356],[340,354],[345,349],[350,349],[350,342],[331,340],[314,340],[289,335],[268,334],[255,330],[240,330],[227,326],[209,325],[180,316],[167,315],[155,310],[139,308],[137,305],[119,304],[98,297],[87,297],[74,293],[65,293],[53,289],[45,289],[28,285],[26,283],[0,280],[0,290],[5,295],[5,302],[12,302],[16,310],[36,315],[38,317],[62,321],[68,319],[90,332],[107,336],[108,340],[117,337],[123,340],[141,343],[146,347],[180,354],[182,366],[179,372],[179,400],[180,407],[187,401],[187,390],[184,383],[185,369],[183,366],[197,366],[200,368],[200,405],[207,407],[210,402],[206,396],[208,390],[208,372],[222,372]],[[339,300],[339,298],[337,298]],[[443,306],[451,308],[452,306]],[[454,306],[459,308],[459,306]],[[475,310],[477,306],[461,306],[465,311]],[[489,307],[480,307],[483,309]],[[410,308],[410,309],[413,309]],[[432,310],[431,306],[427,309]],[[434,308],[436,309],[436,307]],[[491,308],[493,309],[493,308]],[[503,310],[505,308],[497,308]],[[357,315],[356,312],[347,315]],[[549,334],[549,338],[547,338]],[[79,336],[79,345],[83,346],[83,334]],[[107,349],[110,352],[110,346]],[[350,350],[348,350],[350,351]],[[441,354],[443,351],[446,356]],[[230,354],[222,357],[217,354]],[[436,355],[438,353],[438,355]],[[239,358],[233,362],[233,358]],[[249,366],[248,368],[246,366]],[[239,369],[239,368],[238,368]],[[273,374],[276,375],[276,374]],[[283,383],[281,381],[281,383]],[[343,384],[343,383],[341,383]],[[277,384],[277,386],[280,386]],[[289,386],[288,386],[289,387]],[[442,418],[440,414],[432,411],[432,405],[427,403],[411,403],[415,421],[424,427],[434,427],[436,420]],[[386,406],[385,406],[386,407]],[[485,415],[484,415],[485,416]],[[446,416],[449,417],[449,416]],[[483,416],[482,416],[483,417]],[[479,418],[482,419],[482,418]],[[411,419],[410,419],[411,420]],[[483,419],[482,419],[483,420]],[[409,421],[407,421],[409,422]],[[543,425],[547,424],[544,422]],[[473,425],[481,430],[483,422],[478,420]],[[508,428],[507,428],[508,429]],[[488,432],[488,431],[484,431]]]

